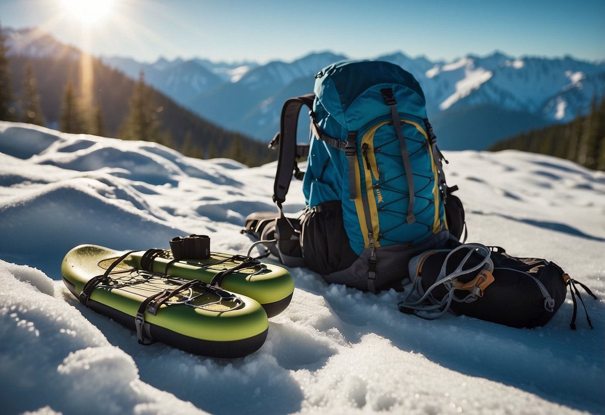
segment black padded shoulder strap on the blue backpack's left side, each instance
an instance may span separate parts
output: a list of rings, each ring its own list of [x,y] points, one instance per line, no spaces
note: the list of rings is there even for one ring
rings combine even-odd
[[[281,209],[281,204],[286,201],[286,194],[290,188],[290,181],[296,165],[297,152],[301,149],[296,145],[296,127],[298,126],[298,115],[303,105],[306,105],[310,110],[313,109],[313,100],[315,94],[306,94],[299,97],[293,97],[284,103],[281,109],[280,132],[275,134],[270,147],[279,148],[277,159],[277,172],[275,174],[275,184],[273,185],[273,201],[278,204]],[[308,154],[308,153],[307,153]],[[304,154],[298,154],[299,156]],[[298,172],[297,172],[298,174]]]

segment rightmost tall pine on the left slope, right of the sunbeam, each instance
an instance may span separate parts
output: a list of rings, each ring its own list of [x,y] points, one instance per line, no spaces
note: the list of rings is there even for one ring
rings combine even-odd
[[[151,91],[145,85],[145,76],[141,71],[130,98],[130,112],[122,122],[118,136],[122,140],[159,141],[159,130],[160,122]]]

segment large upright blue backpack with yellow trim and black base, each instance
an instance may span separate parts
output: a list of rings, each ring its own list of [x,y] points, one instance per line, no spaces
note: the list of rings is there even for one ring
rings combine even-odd
[[[329,283],[378,292],[408,277],[411,257],[462,234],[460,200],[447,188],[442,155],[419,83],[401,67],[372,60],[332,64],[314,94],[284,103],[273,201],[279,216],[246,220],[287,266],[306,266]],[[296,142],[298,116],[310,109],[310,145]],[[302,172],[297,160],[307,157]],[[302,179],[306,210],[282,212],[292,176]],[[448,208],[448,209],[446,209]]]

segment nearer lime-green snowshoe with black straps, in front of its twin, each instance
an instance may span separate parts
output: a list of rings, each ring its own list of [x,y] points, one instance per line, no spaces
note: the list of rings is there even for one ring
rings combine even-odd
[[[62,262],[63,281],[82,301],[85,284],[114,266],[85,303],[137,330],[143,344],[160,341],[189,353],[219,358],[246,356],[263,345],[269,322],[254,299],[201,281],[137,269],[132,257],[114,264],[122,254],[100,246],[77,246]],[[149,299],[162,295],[163,302],[157,301],[157,309],[152,309],[154,302]]]

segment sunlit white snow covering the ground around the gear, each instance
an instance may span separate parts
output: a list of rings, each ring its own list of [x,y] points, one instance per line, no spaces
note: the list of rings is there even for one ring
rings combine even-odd
[[[404,293],[327,285],[293,268],[292,304],[241,359],[194,356],[83,307],[60,281],[71,247],[168,247],[208,234],[246,253],[239,230],[273,210],[276,163],[246,168],[163,146],[0,122],[0,405],[3,414],[574,414],[605,408],[605,174],[514,151],[446,152],[469,241],[555,261],[600,298],[571,297],[520,330],[397,310]],[[299,182],[287,211],[304,205]],[[271,259],[270,259],[271,260]],[[275,260],[275,258],[273,258]]]

